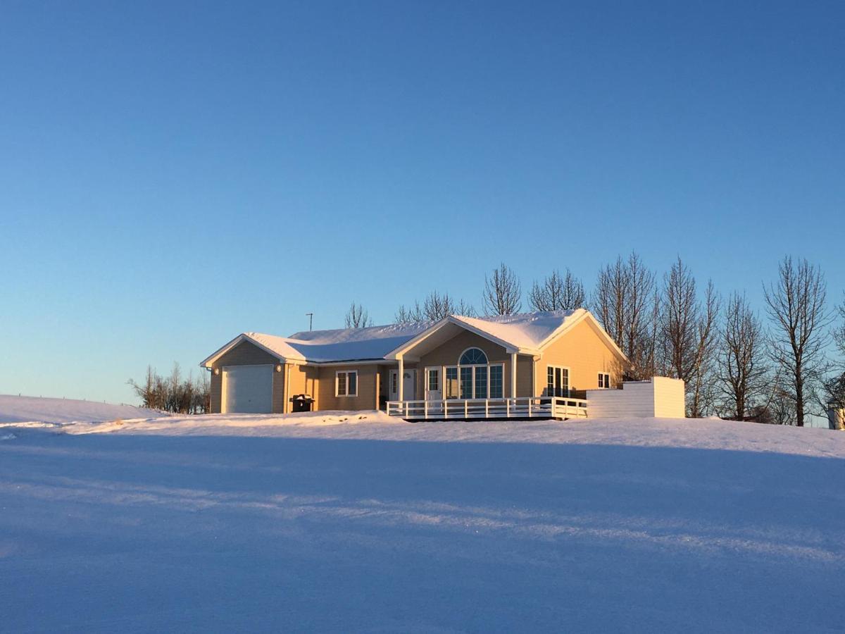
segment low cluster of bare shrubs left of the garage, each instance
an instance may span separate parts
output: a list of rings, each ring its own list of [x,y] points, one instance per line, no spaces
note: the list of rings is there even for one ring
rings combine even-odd
[[[210,412],[210,385],[205,373],[194,377],[191,373],[183,377],[178,363],[173,363],[170,376],[161,376],[150,366],[144,380],[136,383],[128,380],[135,394],[141,399],[142,407],[163,412],[181,414],[204,414]]]

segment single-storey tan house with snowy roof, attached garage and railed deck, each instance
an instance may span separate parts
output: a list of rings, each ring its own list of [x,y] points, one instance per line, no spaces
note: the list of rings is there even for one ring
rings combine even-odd
[[[214,413],[382,409],[404,418],[586,416],[620,385],[624,353],[586,309],[288,337],[244,332],[205,358]],[[552,409],[554,411],[552,411]]]

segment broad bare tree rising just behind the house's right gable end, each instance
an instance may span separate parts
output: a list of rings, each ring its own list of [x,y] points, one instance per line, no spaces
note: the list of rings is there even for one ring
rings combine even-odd
[[[654,273],[631,253],[598,271],[592,311],[630,360],[627,374],[646,379],[655,374],[655,337],[660,309]]]

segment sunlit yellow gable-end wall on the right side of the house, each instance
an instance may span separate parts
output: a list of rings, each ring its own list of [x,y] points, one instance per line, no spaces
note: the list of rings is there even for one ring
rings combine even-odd
[[[570,390],[593,390],[598,387],[598,374],[610,374],[615,387],[622,378],[623,364],[587,320],[575,325],[545,350],[537,361],[534,389],[537,396],[545,396],[547,366],[560,365],[570,369]]]

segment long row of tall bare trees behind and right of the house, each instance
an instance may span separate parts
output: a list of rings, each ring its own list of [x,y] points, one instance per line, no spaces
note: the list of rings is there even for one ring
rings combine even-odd
[[[627,376],[667,375],[684,380],[690,416],[804,424],[823,404],[845,407],[845,303],[839,325],[826,305],[826,282],[807,260],[784,258],[777,279],[764,285],[760,316],[744,293],[722,298],[711,281],[696,280],[680,258],[662,276],[632,253],[599,269],[588,296],[566,269],[534,281],[527,293],[532,310],[586,307],[630,359]],[[522,285],[507,265],[485,277],[483,313],[514,314],[522,308]],[[476,315],[464,300],[433,291],[400,306],[397,323]],[[363,319],[362,319],[363,315]],[[352,304],[347,327],[369,325],[367,312]]]

